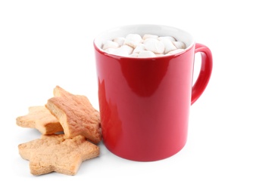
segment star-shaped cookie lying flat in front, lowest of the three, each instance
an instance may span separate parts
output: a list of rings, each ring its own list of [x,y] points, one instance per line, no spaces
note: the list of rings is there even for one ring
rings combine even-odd
[[[83,161],[98,157],[99,147],[84,136],[72,139],[64,134],[42,135],[40,139],[18,145],[20,156],[30,161],[30,173],[57,172],[75,175]]]

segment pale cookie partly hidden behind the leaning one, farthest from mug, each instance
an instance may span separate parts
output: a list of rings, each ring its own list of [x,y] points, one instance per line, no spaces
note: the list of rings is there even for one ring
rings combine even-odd
[[[31,106],[27,115],[16,118],[20,127],[35,128],[42,134],[52,134],[63,131],[58,119],[45,106]]]

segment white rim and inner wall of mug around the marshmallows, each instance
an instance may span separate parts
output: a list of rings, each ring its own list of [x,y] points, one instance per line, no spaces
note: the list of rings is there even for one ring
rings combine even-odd
[[[161,30],[161,33],[158,32],[159,30]],[[172,31],[173,34],[175,35],[164,35],[163,32],[164,31],[166,32],[167,30]],[[154,33],[154,32],[157,32],[157,33]],[[125,35],[128,35],[129,33],[137,33],[140,35],[142,35],[143,33],[144,34],[147,33],[147,34],[155,34],[158,36],[173,36],[178,41],[185,42],[187,47],[184,49],[184,51],[180,51],[176,54],[170,54],[170,55],[161,56],[161,57],[124,57],[124,56],[118,56],[115,54],[110,54],[101,48],[103,41],[125,36]],[[173,57],[176,55],[183,54],[186,51],[189,51],[189,49],[191,49],[194,44],[195,44],[195,39],[189,32],[186,32],[185,30],[174,27],[174,26],[167,26],[167,25],[161,25],[161,24],[160,25],[159,24],[132,24],[132,25],[116,26],[110,29],[106,29],[104,32],[101,32],[94,38],[94,41],[93,41],[95,50],[97,50],[101,54],[105,54],[107,56],[116,57],[116,58],[129,58],[129,59],[134,58],[136,60]]]

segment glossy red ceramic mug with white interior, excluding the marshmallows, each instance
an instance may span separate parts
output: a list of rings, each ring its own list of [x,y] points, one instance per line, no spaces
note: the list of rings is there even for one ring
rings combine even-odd
[[[186,44],[164,57],[120,57],[101,49],[104,41],[128,34],[173,36]],[[186,145],[189,108],[211,77],[212,55],[188,32],[171,26],[120,26],[95,38],[98,103],[106,148],[133,161],[158,161]],[[195,53],[201,70],[192,85]]]

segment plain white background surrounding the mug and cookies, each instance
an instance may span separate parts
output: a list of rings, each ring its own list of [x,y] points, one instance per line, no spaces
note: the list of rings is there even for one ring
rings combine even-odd
[[[254,8],[249,0],[1,1],[0,194],[256,195]],[[17,116],[45,104],[56,85],[88,96],[98,109],[92,41],[137,23],[176,26],[211,48],[211,81],[191,107],[184,149],[136,162],[101,143],[101,155],[83,162],[76,176],[31,175],[17,145],[40,134],[18,127]]]

